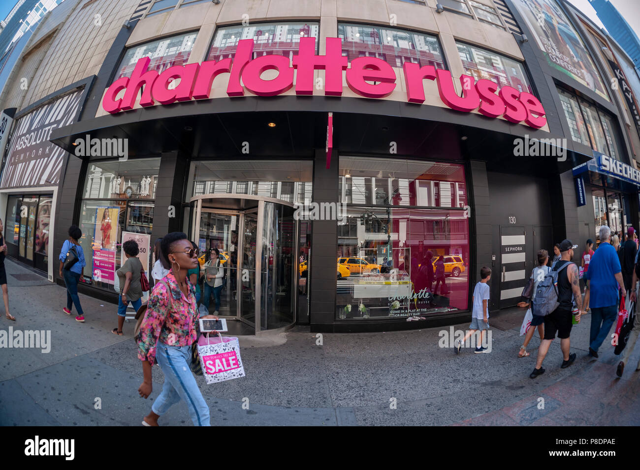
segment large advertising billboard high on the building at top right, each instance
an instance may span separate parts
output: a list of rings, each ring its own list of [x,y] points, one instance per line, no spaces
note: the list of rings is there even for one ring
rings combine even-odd
[[[556,0],[513,0],[550,67],[609,99],[584,42]]]

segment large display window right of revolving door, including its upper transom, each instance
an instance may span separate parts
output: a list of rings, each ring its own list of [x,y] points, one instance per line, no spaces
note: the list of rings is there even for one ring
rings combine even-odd
[[[372,160],[340,158],[346,208],[337,222],[336,318],[406,318],[467,309],[463,166]],[[381,169],[362,169],[365,162]],[[362,180],[349,183],[356,174],[364,175],[358,177]]]

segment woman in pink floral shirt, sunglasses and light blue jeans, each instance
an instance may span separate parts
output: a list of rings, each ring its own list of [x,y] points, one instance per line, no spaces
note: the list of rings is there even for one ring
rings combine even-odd
[[[198,259],[182,232],[166,235],[161,249],[172,269],[154,286],[136,338],[144,373],[138,393],[143,398],[151,394],[151,367],[156,362],[163,370],[164,384],[142,424],[157,426],[158,418],[182,399],[187,403],[193,424],[209,426],[209,407],[189,368],[191,344],[197,339],[198,313],[195,287],[189,281],[187,271],[198,266]],[[206,318],[217,317],[207,315]]]

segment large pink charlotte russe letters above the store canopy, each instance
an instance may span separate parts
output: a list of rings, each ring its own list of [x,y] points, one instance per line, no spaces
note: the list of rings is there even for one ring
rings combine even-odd
[[[242,82],[247,90],[262,97],[280,95],[294,86],[294,69],[297,70],[296,95],[312,95],[314,90],[314,70],[324,70],[324,95],[342,96],[342,71],[346,70],[346,82],[354,93],[365,98],[384,98],[396,89],[397,77],[394,69],[382,59],[360,57],[351,61],[342,56],[342,40],[326,38],[326,54],[316,54],[316,38],[300,38],[298,55],[293,56],[293,67],[289,58],[284,56],[260,56],[252,59],[253,39],[239,41],[236,56],[221,61],[205,61],[170,67],[161,74],[147,70],[150,59],[138,60],[131,77],[122,77],[106,91],[102,107],[108,113],[133,109],[136,98],[143,88],[140,105],[143,107],[159,104],[171,104],[176,101],[202,100],[209,98],[211,86],[216,76],[229,74],[227,95],[244,95]],[[277,70],[275,79],[264,80],[260,77],[266,70]],[[442,102],[456,111],[477,111],[490,118],[504,118],[513,123],[521,123],[540,128],[545,125],[545,110],[538,98],[518,91],[511,86],[498,89],[497,83],[481,79],[476,81],[469,75],[461,75],[460,83],[463,96],[458,96],[453,85],[451,72],[436,70],[433,65],[420,67],[416,63],[403,65],[408,102],[424,102],[423,81],[435,80]],[[171,90],[169,84],[175,79],[180,82]],[[371,82],[376,82],[372,84]],[[124,96],[116,97],[124,90]]]

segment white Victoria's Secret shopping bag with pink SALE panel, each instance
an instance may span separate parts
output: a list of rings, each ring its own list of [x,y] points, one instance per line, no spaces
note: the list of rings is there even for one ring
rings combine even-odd
[[[204,334],[198,340],[200,365],[207,384],[244,377],[244,366],[240,357],[240,343],[235,337],[209,338]]]

